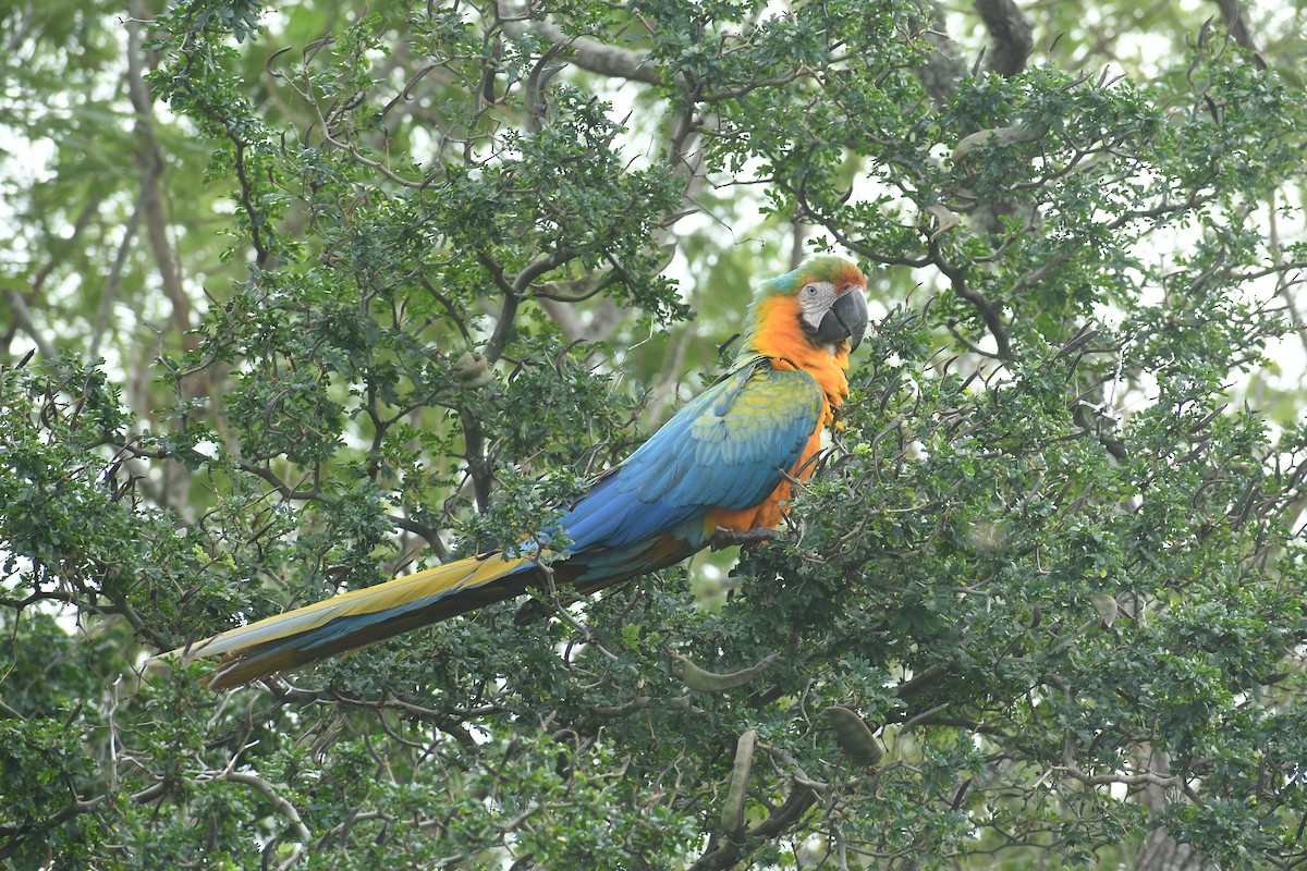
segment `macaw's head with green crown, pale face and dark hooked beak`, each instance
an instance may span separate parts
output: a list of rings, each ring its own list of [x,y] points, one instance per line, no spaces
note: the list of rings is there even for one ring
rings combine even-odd
[[[865,293],[867,279],[850,261],[809,257],[758,289],[750,308],[752,337],[784,333],[813,349],[851,351],[867,332]]]

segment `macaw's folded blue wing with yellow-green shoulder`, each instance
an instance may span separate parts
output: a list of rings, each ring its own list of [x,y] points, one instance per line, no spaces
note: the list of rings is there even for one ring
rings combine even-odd
[[[799,461],[821,410],[810,375],[748,360],[595,482],[561,520],[567,550],[631,545],[710,508],[757,505]]]

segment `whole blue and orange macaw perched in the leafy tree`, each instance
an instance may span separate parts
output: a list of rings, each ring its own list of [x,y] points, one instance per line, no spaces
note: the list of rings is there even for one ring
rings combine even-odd
[[[741,350],[721,379],[563,512],[555,548],[524,543],[243,626],[174,650],[226,654],[209,678],[233,687],[312,665],[421,626],[572,584],[582,593],[672,565],[724,530],[780,522],[822,430],[848,394],[848,354],[867,329],[867,282],[840,257],[812,257],[762,283]]]

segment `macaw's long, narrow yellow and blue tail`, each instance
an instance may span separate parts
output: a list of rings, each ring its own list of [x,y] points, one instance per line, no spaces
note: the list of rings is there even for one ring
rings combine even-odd
[[[229,629],[171,653],[184,661],[225,654],[214,689],[303,669],[391,636],[525,592],[531,556],[473,556]]]

